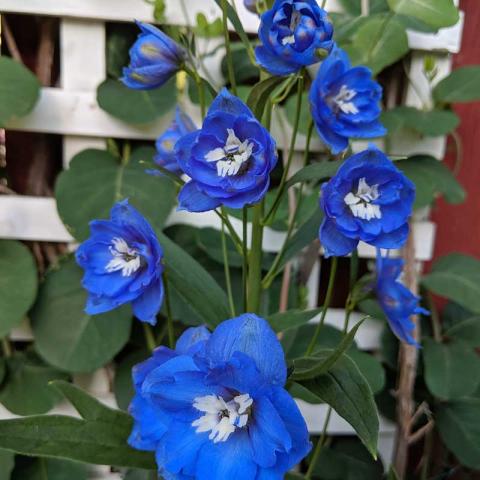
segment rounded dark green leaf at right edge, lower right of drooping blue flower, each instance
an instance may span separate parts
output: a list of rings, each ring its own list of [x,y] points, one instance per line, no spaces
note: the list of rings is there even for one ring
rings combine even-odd
[[[425,382],[437,398],[455,400],[468,397],[480,386],[480,357],[462,342],[423,342]]]

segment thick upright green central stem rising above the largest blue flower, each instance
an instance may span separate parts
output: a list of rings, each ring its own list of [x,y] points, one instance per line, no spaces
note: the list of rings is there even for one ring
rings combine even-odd
[[[248,262],[247,311],[259,313],[262,294],[263,200],[253,207],[252,244]]]

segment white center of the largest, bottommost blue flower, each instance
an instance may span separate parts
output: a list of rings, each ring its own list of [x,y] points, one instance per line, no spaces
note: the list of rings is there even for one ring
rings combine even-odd
[[[208,438],[213,443],[226,442],[237,428],[243,428],[248,423],[252,403],[248,393],[237,395],[230,402],[217,395],[197,397],[193,406],[204,415],[195,420],[192,427],[196,427],[197,433],[210,432]]]

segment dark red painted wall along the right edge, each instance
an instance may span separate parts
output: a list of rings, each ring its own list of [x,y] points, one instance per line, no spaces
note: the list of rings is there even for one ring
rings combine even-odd
[[[454,68],[480,64],[480,1],[461,0],[460,7],[465,12],[465,29]],[[452,252],[480,258],[480,102],[455,105],[454,109],[461,118],[458,132],[463,143],[458,179],[467,191],[467,200],[457,206],[437,202],[433,210],[433,221],[438,225],[435,258]],[[455,162],[451,141],[446,162],[449,166]]]

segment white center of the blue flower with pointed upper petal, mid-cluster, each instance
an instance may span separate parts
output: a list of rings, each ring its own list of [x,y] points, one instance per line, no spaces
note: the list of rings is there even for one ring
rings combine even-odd
[[[245,140],[241,142],[231,129],[227,129],[227,143],[223,148],[214,148],[205,155],[207,162],[217,162],[219,177],[236,175],[242,165],[252,156],[253,143]]]

